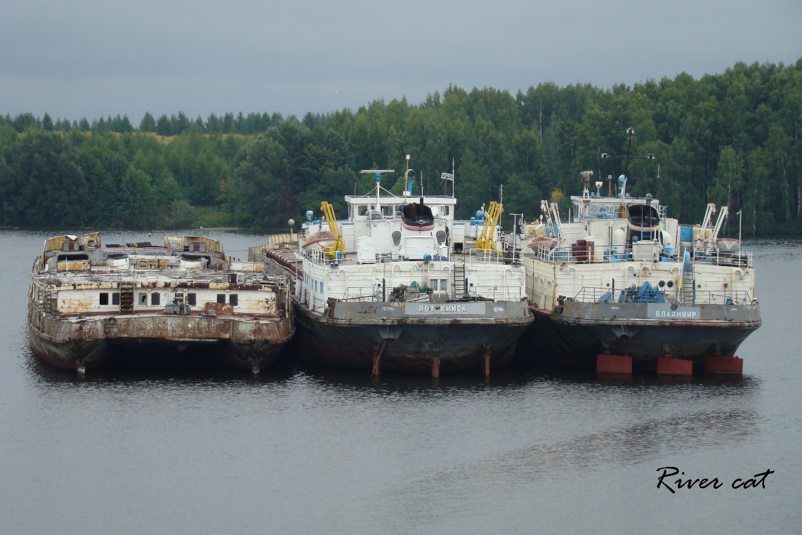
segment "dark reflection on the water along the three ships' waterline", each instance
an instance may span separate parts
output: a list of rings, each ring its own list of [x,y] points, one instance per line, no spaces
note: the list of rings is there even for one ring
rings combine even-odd
[[[369,371],[320,367],[305,363],[285,351],[282,358],[259,375],[225,367],[214,361],[209,351],[196,349],[178,352],[169,348],[148,347],[121,349],[102,367],[92,368],[86,375],[75,370],[52,366],[34,355],[30,347],[22,350],[26,368],[39,383],[103,384],[143,383],[213,383],[220,386],[280,383],[303,377],[306,383],[330,392],[370,392],[375,395],[448,395],[449,392],[516,391],[533,383],[555,387],[624,388],[646,387],[756,387],[749,375],[709,374],[693,377],[654,375],[609,375],[560,369],[541,369],[529,364],[514,364],[492,371],[488,377],[474,374],[443,375],[437,379],[427,375],[385,374],[372,376]],[[722,392],[727,391],[727,389]]]

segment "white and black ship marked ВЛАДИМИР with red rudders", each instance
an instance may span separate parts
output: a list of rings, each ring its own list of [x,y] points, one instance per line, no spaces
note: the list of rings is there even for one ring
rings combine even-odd
[[[525,225],[527,294],[535,322],[521,347],[541,363],[597,371],[691,375],[743,369],[739,345],[760,326],[752,252],[719,239],[713,225],[680,225],[650,195],[584,191],[571,221],[542,201],[545,219]]]

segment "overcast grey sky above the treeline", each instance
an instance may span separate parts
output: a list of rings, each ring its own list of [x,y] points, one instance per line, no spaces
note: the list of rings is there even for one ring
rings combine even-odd
[[[0,113],[303,116],[802,57],[800,0],[2,0]]]

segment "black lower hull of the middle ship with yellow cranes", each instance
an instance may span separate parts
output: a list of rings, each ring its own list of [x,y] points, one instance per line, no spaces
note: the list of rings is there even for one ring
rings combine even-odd
[[[507,366],[533,320],[526,303],[470,305],[496,309],[497,317],[405,316],[404,307],[392,302],[336,302],[314,312],[296,303],[299,355],[312,363],[367,371],[375,370],[378,360],[381,371],[422,374],[432,371],[435,358],[443,373],[480,371],[487,358],[490,367]],[[464,305],[417,306],[451,310]]]

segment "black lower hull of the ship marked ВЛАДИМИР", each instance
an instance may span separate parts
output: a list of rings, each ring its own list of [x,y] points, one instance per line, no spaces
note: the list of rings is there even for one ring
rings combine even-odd
[[[664,312],[656,318],[646,303],[566,302],[562,310],[536,309],[518,353],[532,363],[587,370],[595,369],[599,354],[626,355],[636,372],[654,372],[658,358],[670,356],[692,361],[699,372],[708,356],[735,356],[761,323],[757,304],[684,308],[696,317],[672,318]]]

